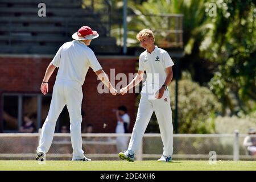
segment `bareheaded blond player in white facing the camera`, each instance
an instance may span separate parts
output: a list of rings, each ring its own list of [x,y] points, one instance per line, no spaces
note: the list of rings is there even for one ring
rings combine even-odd
[[[135,152],[138,151],[148,122],[153,111],[155,111],[164,146],[163,155],[158,161],[171,162],[173,127],[168,85],[173,77],[172,66],[174,63],[166,51],[154,45],[155,36],[151,30],[144,29],[140,31],[137,39],[146,51],[139,56],[137,76],[134,77],[129,85],[120,90],[121,94],[127,93],[129,89],[138,85],[142,81],[144,71],[147,73],[147,79],[141,91],[141,100],[128,150],[120,152],[118,156],[129,162],[134,162]]]

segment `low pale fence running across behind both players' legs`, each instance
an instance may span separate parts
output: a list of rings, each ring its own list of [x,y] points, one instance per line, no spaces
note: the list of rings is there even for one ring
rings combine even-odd
[[[0,134],[0,159],[34,159],[40,133]],[[130,138],[131,134],[82,134],[86,156],[94,160],[117,160],[117,137]],[[256,160],[242,146],[245,134],[174,134],[174,160],[208,160],[215,151],[217,160]],[[255,136],[256,137],[256,136]],[[128,140],[129,141],[129,140]],[[137,160],[155,160],[162,155],[160,134],[144,134]],[[70,134],[55,133],[48,159],[72,158]]]

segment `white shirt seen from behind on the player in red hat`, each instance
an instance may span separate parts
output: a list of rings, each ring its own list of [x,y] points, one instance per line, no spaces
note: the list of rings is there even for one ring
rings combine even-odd
[[[94,72],[102,69],[92,49],[79,40],[64,43],[51,63],[59,68],[56,78],[75,80],[81,85],[84,84],[89,67]]]

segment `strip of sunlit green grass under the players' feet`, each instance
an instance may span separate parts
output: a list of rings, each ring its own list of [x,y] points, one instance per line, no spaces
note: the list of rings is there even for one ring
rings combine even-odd
[[[47,160],[45,164],[39,164],[35,160],[0,160],[1,171],[208,171],[208,170],[256,170],[255,161],[217,161],[209,164],[205,160],[175,160],[172,163],[159,163],[156,161],[135,161],[130,163],[122,160],[71,162],[60,160]]]

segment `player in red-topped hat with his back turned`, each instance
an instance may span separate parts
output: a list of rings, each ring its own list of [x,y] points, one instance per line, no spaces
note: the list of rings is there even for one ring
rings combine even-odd
[[[75,40],[64,43],[49,64],[41,85],[41,91],[44,95],[48,92],[48,80],[53,71],[56,67],[59,68],[59,70],[53,86],[51,105],[42,128],[39,146],[36,151],[36,160],[43,161],[45,159],[45,155],[52,143],[57,118],[63,110],[63,107],[67,105],[71,123],[72,160],[90,161],[89,158],[85,157],[84,151],[82,151],[81,137],[82,85],[84,84],[89,67],[92,68],[98,78],[108,86],[110,93],[113,95],[117,94],[117,90],[110,84],[94,52],[88,47],[92,39],[98,36],[97,31],[93,31],[90,27],[81,27],[79,31],[72,35],[72,38]]]

